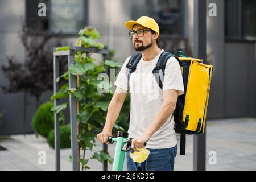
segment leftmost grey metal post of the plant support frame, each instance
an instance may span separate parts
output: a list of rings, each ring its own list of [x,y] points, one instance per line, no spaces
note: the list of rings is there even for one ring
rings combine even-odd
[[[53,82],[54,82],[54,94],[59,91],[59,85],[56,82],[56,78],[59,77],[59,56],[53,55]],[[54,106],[59,105],[59,100],[54,100]],[[60,171],[60,123],[56,113],[54,113],[54,130],[55,130],[55,170]]]

